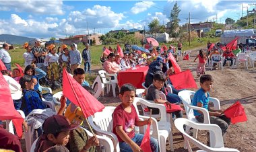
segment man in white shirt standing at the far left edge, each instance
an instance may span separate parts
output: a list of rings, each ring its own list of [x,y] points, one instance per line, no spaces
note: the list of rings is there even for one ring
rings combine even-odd
[[[0,60],[5,64],[7,70],[11,71],[11,56],[8,50],[9,44],[4,43],[3,48],[0,50]]]

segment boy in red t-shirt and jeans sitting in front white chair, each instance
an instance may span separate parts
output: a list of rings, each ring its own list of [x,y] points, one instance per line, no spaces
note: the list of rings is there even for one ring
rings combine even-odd
[[[135,87],[131,84],[125,84],[121,87],[119,98],[121,104],[117,106],[113,113],[113,133],[119,139],[121,151],[141,151],[139,145],[143,135],[135,134],[135,126],[143,126],[152,123],[152,119],[140,121],[133,106],[135,98]],[[150,138],[150,147],[152,151],[158,151],[158,141]]]

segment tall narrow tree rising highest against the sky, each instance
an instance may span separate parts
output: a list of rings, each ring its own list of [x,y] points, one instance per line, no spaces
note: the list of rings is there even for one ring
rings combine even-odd
[[[177,35],[177,28],[179,28],[179,22],[181,21],[179,19],[179,13],[181,9],[179,9],[179,6],[176,3],[173,5],[172,11],[170,11],[170,34],[172,35]]]

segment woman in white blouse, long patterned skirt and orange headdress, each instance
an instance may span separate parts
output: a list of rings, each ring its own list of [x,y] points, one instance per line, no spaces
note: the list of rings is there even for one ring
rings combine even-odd
[[[46,55],[44,60],[44,66],[47,67],[47,77],[50,84],[55,84],[59,80],[59,55],[56,53],[56,48],[54,44],[48,46],[51,51]]]

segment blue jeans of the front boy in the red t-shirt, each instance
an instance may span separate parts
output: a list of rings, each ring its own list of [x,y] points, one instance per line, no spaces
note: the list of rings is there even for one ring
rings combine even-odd
[[[135,134],[135,136],[131,139],[136,143],[137,145],[141,145],[141,141],[143,139],[144,135],[141,134]],[[121,152],[131,152],[133,151],[129,144],[123,142],[119,142],[119,147]],[[158,141],[152,137],[150,137],[150,147],[153,152],[158,152]]]

